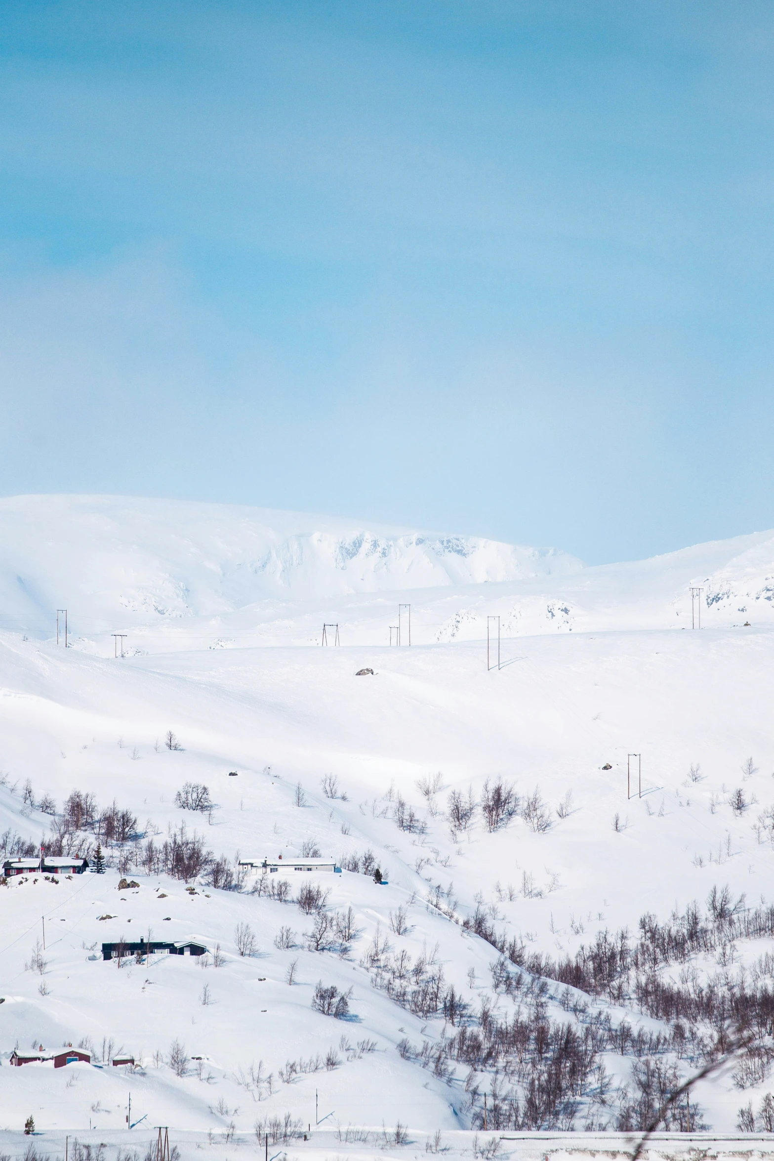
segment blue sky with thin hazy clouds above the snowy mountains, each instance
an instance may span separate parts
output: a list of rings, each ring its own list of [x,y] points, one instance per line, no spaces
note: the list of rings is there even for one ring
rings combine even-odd
[[[6,2],[0,492],[774,525],[769,2]]]

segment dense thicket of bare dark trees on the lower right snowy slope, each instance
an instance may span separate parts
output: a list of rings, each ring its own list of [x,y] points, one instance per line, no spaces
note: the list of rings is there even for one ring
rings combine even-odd
[[[531,1005],[533,1015],[526,1021],[533,1032],[543,1039],[555,1037],[562,1040],[563,1053],[569,1052],[569,1063],[551,1068],[544,1074],[541,1054],[537,1057],[531,1041],[526,1039],[527,1030],[518,1022],[509,1030],[492,1024],[491,1014],[482,1011],[475,1019],[465,1014],[460,1031],[455,1034],[451,1053],[471,1068],[494,1069],[495,1075],[512,1083],[512,1090],[502,1088],[502,1101],[497,1091],[491,1099],[501,1111],[502,1127],[560,1127],[572,1122],[573,1102],[580,1096],[598,1101],[599,1109],[592,1116],[596,1127],[614,1124],[621,1131],[643,1128],[663,1111],[660,1124],[674,1130],[701,1127],[701,1109],[689,1101],[687,1094],[679,1093],[680,1077],[678,1061],[687,1059],[692,1067],[717,1060],[733,1045],[730,1029],[735,1029],[737,1061],[733,1080],[738,1088],[760,1084],[769,1075],[774,1065],[774,956],[760,956],[755,962],[730,971],[733,962],[733,944],[738,939],[769,939],[774,936],[774,907],[747,908],[744,896],[733,899],[728,887],[714,887],[707,900],[706,911],[694,903],[683,914],[673,914],[666,923],[657,922],[652,915],[639,921],[638,938],[632,940],[627,930],[610,935],[598,933],[589,946],[583,946],[574,956],[562,960],[528,952],[523,943],[498,935],[491,913],[480,904],[464,921],[465,925],[487,939],[501,953],[492,966],[495,990],[505,990],[520,1002]],[[663,968],[670,965],[687,965],[692,957],[714,956],[719,969],[701,976],[697,971],[683,968],[680,982],[665,978]],[[515,971],[513,969],[515,966]],[[584,1024],[581,1031],[566,1030],[559,1033],[550,1030],[540,1032],[541,993],[549,990],[549,981],[565,985],[559,995],[563,1007],[572,1010],[576,1019]],[[535,998],[537,989],[537,998]],[[584,995],[585,994],[585,995]],[[609,1015],[602,1018],[588,1012],[586,997],[601,997],[619,1005],[636,1007],[641,1012],[666,1024],[663,1033],[634,1031],[627,1021],[615,1025]],[[520,1016],[519,1021],[523,1018]],[[542,1021],[545,1023],[544,1021]],[[475,1026],[470,1026],[470,1025]],[[583,1044],[576,1045],[573,1038]],[[548,1043],[547,1041],[547,1043]],[[511,1048],[507,1048],[511,1043]],[[536,1050],[537,1041],[533,1044]],[[505,1047],[504,1047],[505,1046]],[[630,1081],[615,1094],[617,1112],[610,1122],[603,1105],[609,1104],[601,1073],[596,1074],[596,1088],[573,1083],[560,1084],[557,1077],[576,1075],[576,1052],[581,1057],[591,1053],[592,1070],[598,1068],[601,1052],[615,1051],[635,1058]],[[521,1061],[521,1070],[508,1062],[515,1053]],[[531,1060],[531,1063],[530,1063]],[[563,1057],[564,1060],[564,1057]],[[540,1066],[540,1067],[538,1067]],[[558,1067],[558,1066],[557,1066]],[[528,1068],[528,1072],[523,1069]],[[530,1068],[537,1068],[537,1082],[533,1084]],[[586,1075],[584,1084],[588,1086]],[[569,1086],[569,1087],[567,1087]],[[495,1086],[497,1088],[497,1086]],[[595,1093],[601,1094],[598,1098]],[[555,1094],[555,1097],[551,1097]],[[602,1099],[605,1097],[605,1099]],[[499,1102],[499,1103],[498,1103]],[[548,1102],[548,1104],[547,1104]],[[491,1106],[490,1106],[491,1108]],[[505,1111],[502,1111],[505,1110]],[[771,1110],[774,1115],[774,1108]],[[490,1112],[490,1117],[495,1116]],[[767,1110],[761,1106],[758,1123],[764,1124]],[[752,1105],[739,1110],[739,1125],[752,1128],[755,1124]],[[490,1120],[494,1127],[495,1120]]]

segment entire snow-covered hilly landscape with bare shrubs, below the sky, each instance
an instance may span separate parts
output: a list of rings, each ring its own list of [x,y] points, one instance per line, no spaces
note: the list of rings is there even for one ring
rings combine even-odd
[[[773,605],[774,532],[0,500],[3,859],[92,861],[0,886],[0,1154],[767,1153]]]

